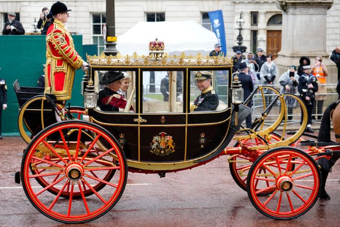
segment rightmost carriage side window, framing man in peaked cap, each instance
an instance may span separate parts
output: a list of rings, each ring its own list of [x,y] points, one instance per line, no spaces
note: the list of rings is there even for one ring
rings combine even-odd
[[[228,70],[190,72],[190,112],[221,111],[228,107],[228,73]]]

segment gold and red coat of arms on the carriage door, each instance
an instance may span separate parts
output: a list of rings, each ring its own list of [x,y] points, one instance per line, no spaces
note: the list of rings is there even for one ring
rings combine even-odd
[[[167,133],[165,132],[161,132],[158,136],[154,136],[150,146],[150,152],[155,155],[170,155],[175,152],[175,143],[172,140],[172,136],[167,136]]]

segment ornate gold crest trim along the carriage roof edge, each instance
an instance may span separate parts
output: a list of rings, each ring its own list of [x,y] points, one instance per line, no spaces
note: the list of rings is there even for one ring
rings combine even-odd
[[[91,66],[232,66],[233,60],[224,56],[203,56],[198,53],[196,56],[186,55],[182,52],[180,55],[169,55],[164,53],[158,60],[151,59],[146,55],[122,56],[119,52],[117,56],[106,56],[103,52],[101,55],[87,55],[87,61]]]

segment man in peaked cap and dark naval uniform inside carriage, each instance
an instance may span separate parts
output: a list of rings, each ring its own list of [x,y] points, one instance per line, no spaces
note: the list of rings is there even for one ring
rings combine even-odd
[[[196,85],[202,91],[193,104],[190,105],[192,111],[214,111],[219,105],[219,96],[212,89],[210,81],[213,74],[208,71],[194,72]]]

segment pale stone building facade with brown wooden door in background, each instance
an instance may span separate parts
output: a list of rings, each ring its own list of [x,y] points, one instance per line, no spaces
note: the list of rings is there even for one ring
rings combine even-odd
[[[34,18],[39,19],[43,7],[51,8],[54,1],[46,0],[0,0],[0,24],[4,24],[7,12],[18,13],[26,32],[33,31]],[[105,24],[105,0],[63,0],[70,11],[68,30],[83,35],[84,44],[97,44],[103,49],[102,28]],[[206,13],[221,9],[223,12],[227,54],[234,55],[232,46],[237,45],[236,20],[242,12],[243,45],[247,51],[256,47],[273,54],[280,50],[282,12],[275,0],[115,0],[116,35],[128,31],[138,21],[194,20],[210,29]],[[327,12],[326,51],[331,53],[340,45],[340,0],[334,0]],[[281,18],[281,20],[280,20]],[[306,24],[308,26],[308,24]],[[137,38],[137,37],[136,37]],[[153,37],[150,37],[151,39]],[[119,42],[119,40],[118,40]],[[213,47],[212,47],[213,49]]]

